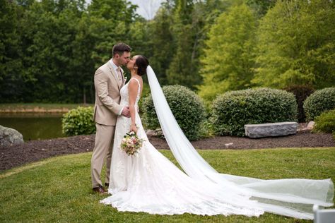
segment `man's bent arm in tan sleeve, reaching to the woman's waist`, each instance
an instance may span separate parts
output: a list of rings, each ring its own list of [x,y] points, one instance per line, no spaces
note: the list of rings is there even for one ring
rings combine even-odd
[[[100,69],[95,71],[94,76],[94,86],[95,91],[98,94],[99,100],[102,102],[107,109],[110,109],[114,114],[119,114],[119,111],[122,111],[123,107],[119,106],[117,102],[112,100],[112,97],[108,95],[108,85],[107,85],[107,76]]]

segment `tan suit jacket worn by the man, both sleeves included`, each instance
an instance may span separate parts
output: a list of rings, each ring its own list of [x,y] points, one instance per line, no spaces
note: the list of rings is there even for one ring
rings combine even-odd
[[[94,75],[95,86],[95,105],[93,113],[93,121],[105,126],[115,126],[117,115],[122,109],[119,105],[121,100],[120,89],[124,85],[123,70],[122,84],[117,79],[112,64],[108,61],[100,66]]]

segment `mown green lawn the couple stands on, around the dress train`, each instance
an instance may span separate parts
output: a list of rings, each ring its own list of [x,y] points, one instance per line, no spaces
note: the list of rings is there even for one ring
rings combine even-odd
[[[175,162],[169,150],[161,150]],[[219,172],[261,179],[335,181],[335,147],[269,150],[199,150]],[[312,222],[265,213],[239,215],[148,215],[117,212],[91,193],[91,153],[52,157],[0,172],[0,222]],[[176,163],[176,162],[175,162]]]

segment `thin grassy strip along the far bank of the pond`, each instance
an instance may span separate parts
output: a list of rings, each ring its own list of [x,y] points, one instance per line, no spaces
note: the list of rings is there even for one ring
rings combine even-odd
[[[62,112],[69,109],[75,109],[78,106],[93,106],[93,104],[43,104],[43,103],[0,104],[0,112]]]

